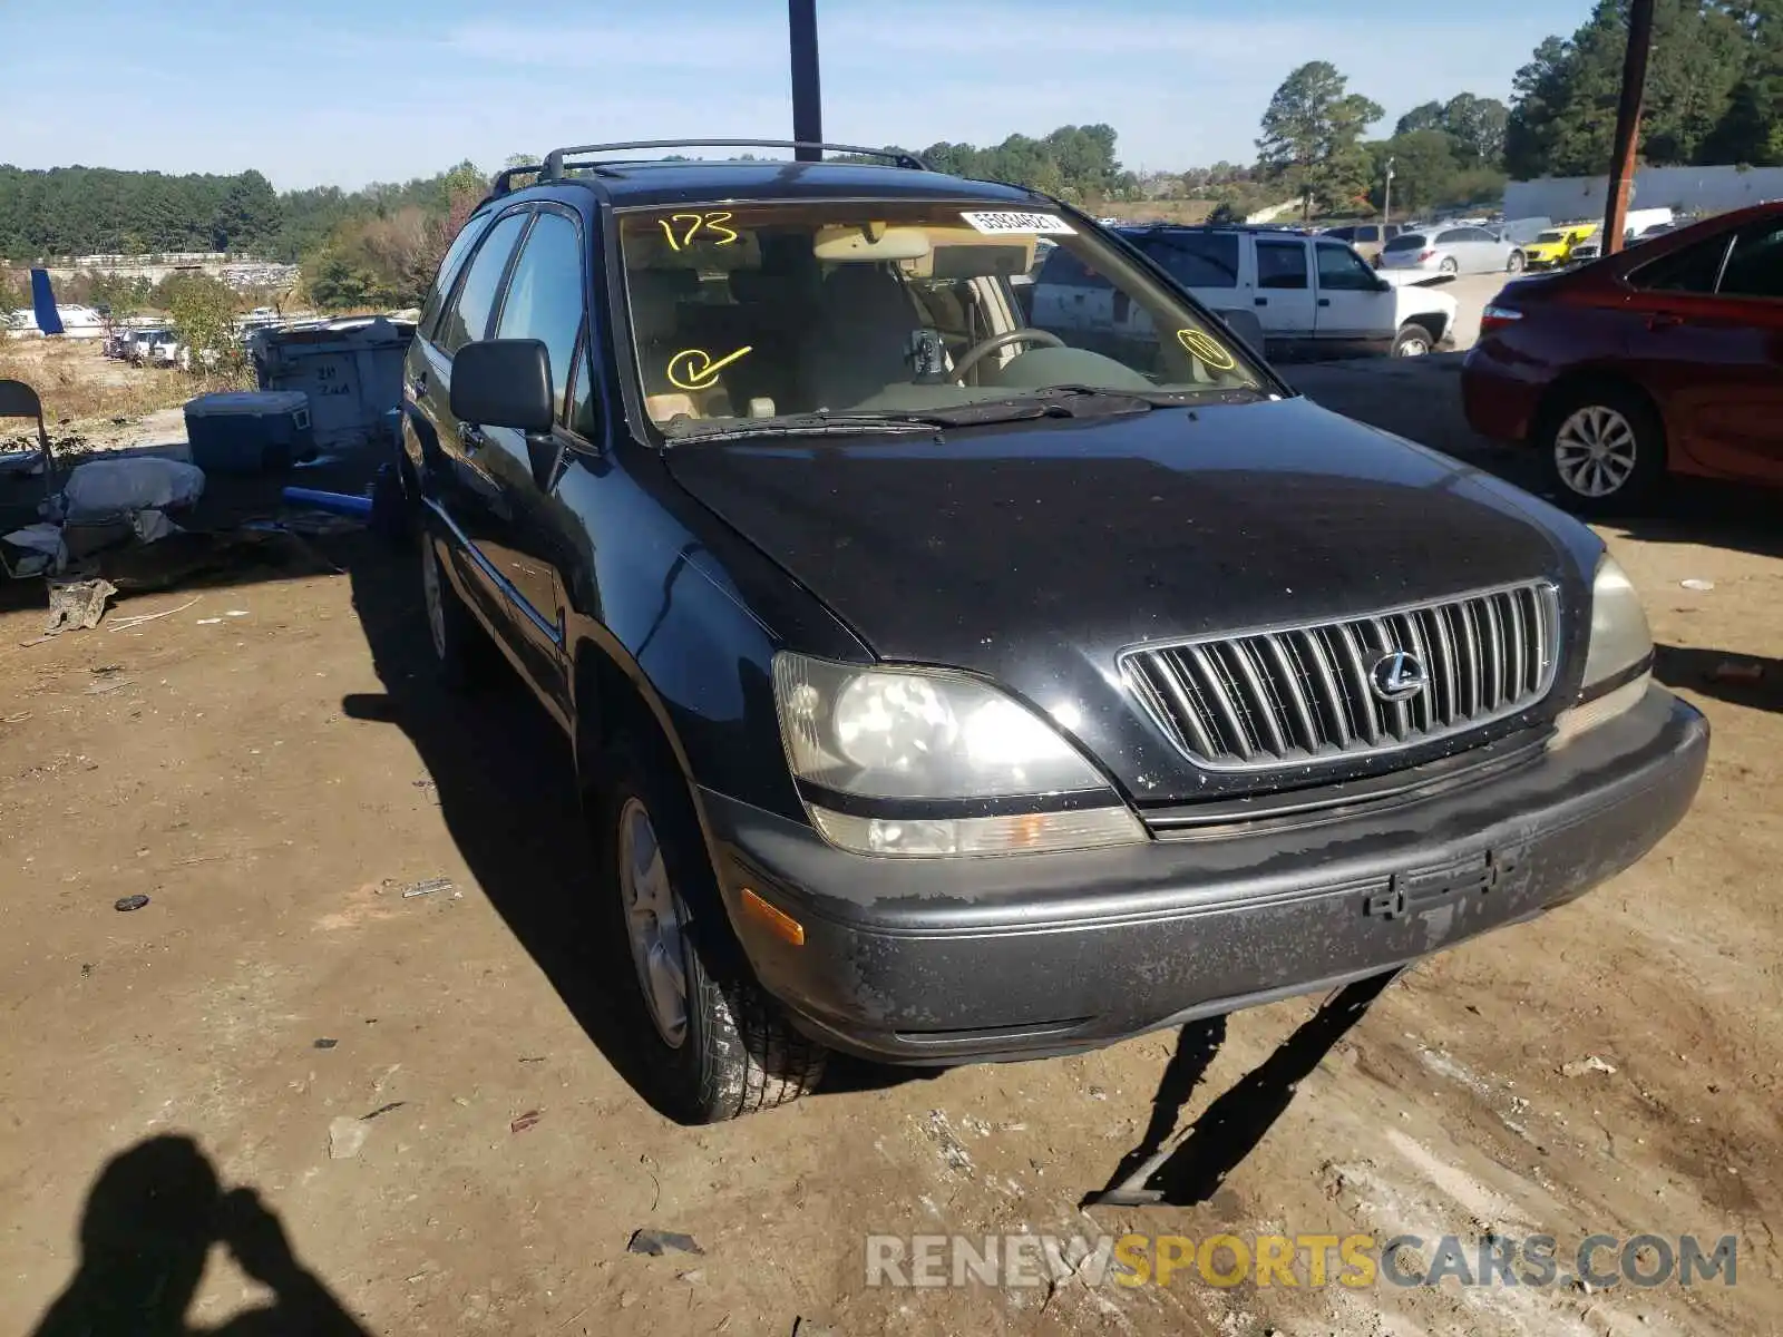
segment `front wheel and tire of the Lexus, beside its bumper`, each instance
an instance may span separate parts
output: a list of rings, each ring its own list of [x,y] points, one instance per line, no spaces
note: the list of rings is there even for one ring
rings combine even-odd
[[[722,1123],[811,1091],[829,1050],[756,982],[670,763],[626,742],[590,802],[615,939],[629,957],[638,1079],[679,1123]],[[624,966],[620,966],[624,970]]]

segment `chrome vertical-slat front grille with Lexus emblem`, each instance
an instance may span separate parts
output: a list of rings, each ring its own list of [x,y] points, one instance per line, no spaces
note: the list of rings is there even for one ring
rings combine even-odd
[[[1343,622],[1123,651],[1122,674],[1196,765],[1264,770],[1416,747],[1478,729],[1553,686],[1560,595],[1528,583]],[[1387,701],[1376,665],[1405,652],[1423,690]]]

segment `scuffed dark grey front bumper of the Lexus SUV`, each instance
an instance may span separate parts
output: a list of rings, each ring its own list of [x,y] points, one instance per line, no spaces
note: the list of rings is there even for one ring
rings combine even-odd
[[[1708,724],[1635,710],[1430,799],[1082,854],[872,859],[704,792],[749,959],[811,1036],[950,1064],[1107,1045],[1401,966],[1541,915],[1689,809]],[[1262,824],[1255,824],[1262,825]],[[793,947],[740,913],[752,888]]]

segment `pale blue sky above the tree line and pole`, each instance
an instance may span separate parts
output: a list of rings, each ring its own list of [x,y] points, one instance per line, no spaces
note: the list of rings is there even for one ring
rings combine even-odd
[[[1107,121],[1129,168],[1250,160],[1282,77],[1332,61],[1400,112],[1508,98],[1589,0],[818,0],[834,141]],[[790,134],[781,0],[0,0],[0,162],[260,168],[278,187],[603,139]],[[169,21],[177,16],[177,21]],[[27,102],[29,91],[55,98]]]

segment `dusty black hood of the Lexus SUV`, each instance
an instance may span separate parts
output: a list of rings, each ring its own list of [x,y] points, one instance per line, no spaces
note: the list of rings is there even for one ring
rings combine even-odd
[[[1571,603],[1594,560],[1535,499],[1305,399],[667,458],[881,658],[1068,706],[1141,800],[1211,781],[1136,713],[1123,647],[1541,576]]]

